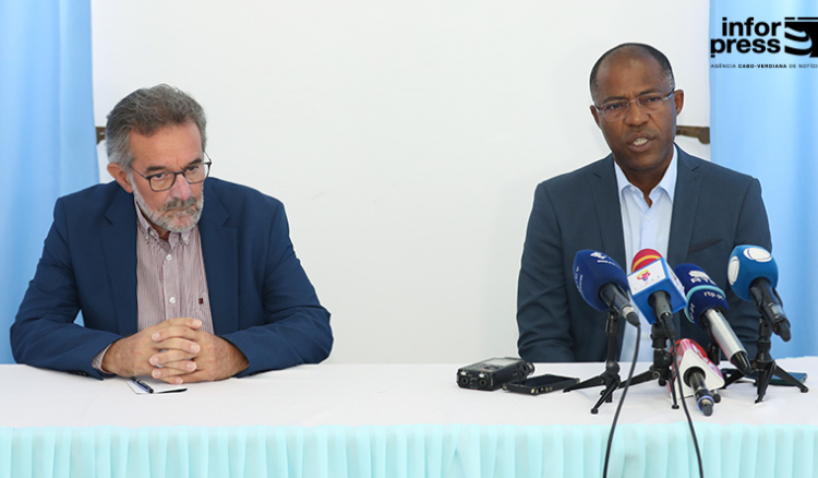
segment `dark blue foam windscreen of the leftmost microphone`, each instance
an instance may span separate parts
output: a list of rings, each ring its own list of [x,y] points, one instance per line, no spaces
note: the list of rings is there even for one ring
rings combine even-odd
[[[608,304],[600,298],[599,289],[613,283],[628,290],[625,271],[613,259],[598,251],[584,250],[574,256],[574,283],[579,295],[597,310],[608,310]]]

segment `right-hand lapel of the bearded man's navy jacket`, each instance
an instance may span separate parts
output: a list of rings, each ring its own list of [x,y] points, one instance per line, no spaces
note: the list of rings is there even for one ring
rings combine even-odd
[[[214,191],[213,181],[205,180],[199,234],[213,328],[217,335],[224,335],[239,330],[239,251],[236,228],[227,226],[230,214]]]

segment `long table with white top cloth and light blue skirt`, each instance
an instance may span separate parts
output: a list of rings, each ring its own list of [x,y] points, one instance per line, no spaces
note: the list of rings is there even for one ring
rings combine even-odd
[[[818,358],[778,363],[807,372],[808,386],[818,377]],[[460,366],[301,366],[167,395],[136,395],[122,379],[0,366],[0,477],[602,476],[621,392],[591,415],[600,387],[462,390]],[[542,363],[534,373],[602,370]],[[688,401],[706,476],[818,476],[817,394],[771,386],[755,404],[755,386],[736,383],[710,417]],[[698,476],[666,389],[631,387],[618,423],[609,476]]]

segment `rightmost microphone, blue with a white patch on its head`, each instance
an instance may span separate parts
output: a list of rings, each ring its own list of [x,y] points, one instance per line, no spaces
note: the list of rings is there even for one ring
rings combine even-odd
[[[730,254],[727,279],[736,296],[756,302],[772,332],[790,342],[790,321],[775,291],[779,266],[772,255],[758,246],[737,246]]]

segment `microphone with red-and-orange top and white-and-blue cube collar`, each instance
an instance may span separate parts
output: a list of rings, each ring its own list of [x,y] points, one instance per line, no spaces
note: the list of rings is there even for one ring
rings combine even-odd
[[[664,325],[671,339],[673,312],[682,310],[685,300],[684,287],[662,254],[652,249],[642,249],[634,256],[633,273],[628,276],[630,295],[636,307],[651,324],[657,320]]]

